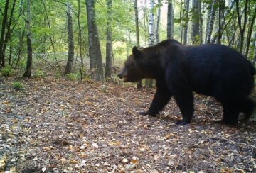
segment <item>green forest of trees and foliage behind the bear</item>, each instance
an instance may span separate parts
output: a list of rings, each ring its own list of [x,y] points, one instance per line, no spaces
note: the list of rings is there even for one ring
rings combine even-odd
[[[4,75],[113,79],[132,46],[225,44],[255,64],[253,0],[1,0]],[[150,84],[149,84],[150,85]]]

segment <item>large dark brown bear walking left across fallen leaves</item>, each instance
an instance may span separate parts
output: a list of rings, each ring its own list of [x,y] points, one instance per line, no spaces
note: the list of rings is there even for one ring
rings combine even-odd
[[[156,93],[143,115],[156,116],[174,96],[182,121],[191,123],[193,91],[213,96],[223,106],[223,123],[238,123],[239,113],[252,115],[254,102],[249,95],[254,86],[255,67],[225,45],[183,45],[176,40],[138,50],[132,48],[118,76],[124,82],[156,79]]]

